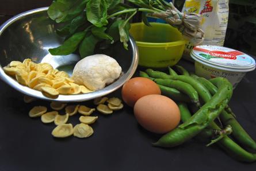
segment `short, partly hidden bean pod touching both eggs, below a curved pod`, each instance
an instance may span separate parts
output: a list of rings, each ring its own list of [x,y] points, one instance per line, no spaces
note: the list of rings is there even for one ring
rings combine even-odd
[[[158,84],[158,87],[160,88],[162,95],[165,95],[173,99],[174,101],[190,102],[190,98],[188,96],[186,96],[185,94],[183,94],[175,88],[166,87],[160,84]]]

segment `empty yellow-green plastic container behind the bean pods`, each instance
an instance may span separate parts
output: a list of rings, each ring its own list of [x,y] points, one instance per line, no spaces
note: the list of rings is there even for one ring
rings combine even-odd
[[[178,63],[184,52],[186,41],[178,29],[169,24],[143,22],[131,24],[129,33],[139,48],[139,65],[163,68]]]

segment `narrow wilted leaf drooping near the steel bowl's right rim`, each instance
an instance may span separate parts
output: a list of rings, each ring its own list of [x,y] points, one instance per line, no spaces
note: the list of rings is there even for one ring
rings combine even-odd
[[[124,48],[128,50],[129,41],[129,29],[130,24],[125,22],[124,20],[120,20],[119,22],[119,34],[120,34],[120,41],[124,43]]]

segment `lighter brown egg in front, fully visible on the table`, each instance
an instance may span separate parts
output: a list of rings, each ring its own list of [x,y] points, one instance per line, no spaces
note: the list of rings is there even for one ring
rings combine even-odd
[[[137,100],[133,111],[137,122],[152,133],[167,133],[181,120],[177,104],[162,95],[143,96]]]

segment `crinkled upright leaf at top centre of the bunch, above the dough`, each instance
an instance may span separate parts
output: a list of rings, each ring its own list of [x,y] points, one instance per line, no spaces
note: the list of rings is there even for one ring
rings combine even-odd
[[[90,0],[86,5],[87,20],[101,28],[108,24],[108,3],[106,0]]]

